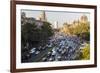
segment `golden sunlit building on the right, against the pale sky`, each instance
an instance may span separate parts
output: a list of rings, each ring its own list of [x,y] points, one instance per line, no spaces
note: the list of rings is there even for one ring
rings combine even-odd
[[[81,16],[78,20],[74,20],[71,24],[65,23],[61,29],[61,32],[67,35],[71,35],[74,33],[72,31],[77,27],[81,27],[80,29],[82,29],[82,32],[85,32],[86,29],[87,30],[89,29],[90,25],[89,25],[88,17],[86,15]]]

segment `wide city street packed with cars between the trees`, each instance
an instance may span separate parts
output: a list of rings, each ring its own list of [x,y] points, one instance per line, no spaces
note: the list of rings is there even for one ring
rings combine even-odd
[[[44,47],[32,48],[29,62],[78,60],[83,41],[76,36],[56,33]]]

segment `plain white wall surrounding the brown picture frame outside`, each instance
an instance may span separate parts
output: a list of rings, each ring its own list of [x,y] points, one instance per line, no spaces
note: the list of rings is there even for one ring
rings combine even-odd
[[[98,6],[98,37],[100,37],[100,2],[99,0],[34,0],[43,2],[90,4]],[[85,69],[41,71],[34,73],[99,73],[100,72],[100,38],[98,38],[98,67]],[[0,73],[10,73],[10,0],[0,1]],[[33,72],[30,72],[33,73]]]

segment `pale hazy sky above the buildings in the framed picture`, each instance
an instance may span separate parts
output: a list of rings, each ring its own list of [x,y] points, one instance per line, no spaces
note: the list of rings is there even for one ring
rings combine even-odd
[[[26,17],[37,18],[41,14],[41,11],[37,10],[21,10],[21,12],[26,13]],[[45,11],[47,21],[54,24],[55,21],[58,22],[59,26],[62,26],[63,23],[72,23],[74,20],[78,20],[82,15],[86,15],[88,20],[90,20],[90,14],[86,12],[67,12],[67,11]]]

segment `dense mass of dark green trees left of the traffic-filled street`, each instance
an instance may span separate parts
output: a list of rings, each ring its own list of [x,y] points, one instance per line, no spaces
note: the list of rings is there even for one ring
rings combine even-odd
[[[21,25],[21,54],[22,60],[29,53],[33,47],[38,47],[40,44],[44,44],[44,41],[48,40],[53,35],[53,30],[48,22],[43,22],[40,28],[35,23],[26,23]]]

